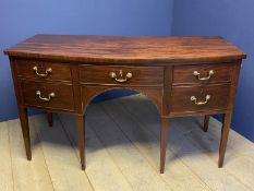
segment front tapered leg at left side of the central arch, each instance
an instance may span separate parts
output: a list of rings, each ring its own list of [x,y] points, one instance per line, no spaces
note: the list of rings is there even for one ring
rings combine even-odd
[[[77,142],[80,148],[81,168],[85,169],[85,129],[83,115],[76,115]]]

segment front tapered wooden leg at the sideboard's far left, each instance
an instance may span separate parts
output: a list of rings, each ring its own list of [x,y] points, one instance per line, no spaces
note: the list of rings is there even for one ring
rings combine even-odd
[[[27,108],[19,107],[19,114],[20,114],[20,120],[21,120],[22,134],[23,134],[24,143],[25,143],[26,158],[31,160],[32,152],[31,152],[31,136],[29,136]]]

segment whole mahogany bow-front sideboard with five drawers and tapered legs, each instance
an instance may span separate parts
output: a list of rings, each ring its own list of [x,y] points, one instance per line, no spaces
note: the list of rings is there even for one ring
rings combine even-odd
[[[161,118],[164,172],[169,118],[222,114],[218,166],[222,167],[242,59],[218,36],[126,37],[35,35],[4,50],[9,56],[27,159],[32,159],[27,108],[75,116],[85,169],[83,115],[102,92],[130,88],[146,95]]]

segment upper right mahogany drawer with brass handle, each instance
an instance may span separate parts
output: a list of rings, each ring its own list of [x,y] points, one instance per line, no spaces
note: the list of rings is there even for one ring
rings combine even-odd
[[[233,64],[174,67],[173,84],[230,82]]]

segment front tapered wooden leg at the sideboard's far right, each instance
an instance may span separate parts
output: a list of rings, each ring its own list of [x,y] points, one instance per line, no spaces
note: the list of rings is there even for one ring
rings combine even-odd
[[[232,116],[231,114],[223,115],[222,129],[220,135],[220,146],[219,146],[219,163],[218,163],[219,168],[223,166],[223,158],[225,158],[225,152],[229,136],[231,116]]]

